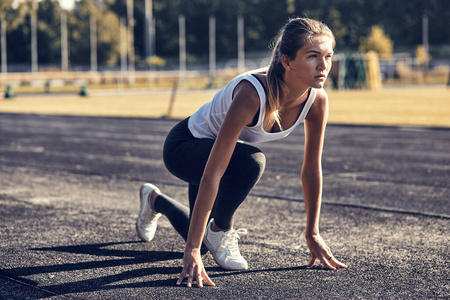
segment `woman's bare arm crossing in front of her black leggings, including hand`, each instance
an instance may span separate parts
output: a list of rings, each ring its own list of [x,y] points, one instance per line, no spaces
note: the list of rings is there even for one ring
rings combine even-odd
[[[186,241],[183,272],[177,284],[180,284],[188,275],[188,287],[192,286],[194,278],[197,279],[199,287],[203,286],[202,279],[205,279],[209,285],[214,285],[206,274],[200,257],[205,227],[217,196],[220,180],[228,167],[239,135],[246,125],[251,124],[259,106],[256,89],[248,81],[242,81],[235,88],[233,102],[220,128],[200,181]],[[197,278],[199,274],[201,276]]]

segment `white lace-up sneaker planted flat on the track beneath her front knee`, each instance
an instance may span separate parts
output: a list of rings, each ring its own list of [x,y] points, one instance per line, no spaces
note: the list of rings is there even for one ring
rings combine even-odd
[[[247,270],[248,264],[238,248],[239,235],[247,234],[247,229],[230,231],[211,230],[213,219],[208,223],[203,242],[214,257],[216,263],[227,270]]]

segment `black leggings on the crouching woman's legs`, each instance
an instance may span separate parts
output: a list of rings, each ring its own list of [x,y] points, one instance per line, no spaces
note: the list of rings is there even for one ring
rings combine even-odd
[[[203,170],[215,141],[195,138],[188,128],[188,120],[181,121],[170,131],[164,143],[163,156],[167,169],[189,184],[190,208],[166,195],[159,195],[155,200],[155,210],[169,219],[184,240],[187,239]],[[265,164],[261,150],[243,143],[236,144],[210,215],[219,228],[232,228],[234,213],[261,178]]]

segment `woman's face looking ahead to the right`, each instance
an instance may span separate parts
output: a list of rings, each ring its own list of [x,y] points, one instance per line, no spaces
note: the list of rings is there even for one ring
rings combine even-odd
[[[328,35],[313,37],[311,43],[297,51],[294,60],[289,60],[286,76],[307,88],[322,88],[331,69],[333,42]]]

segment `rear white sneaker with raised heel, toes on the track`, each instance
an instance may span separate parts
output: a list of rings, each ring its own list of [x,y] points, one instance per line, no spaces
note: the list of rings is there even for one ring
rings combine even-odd
[[[141,240],[150,242],[155,236],[158,219],[161,213],[154,211],[150,206],[150,195],[154,190],[158,189],[150,183],[141,186],[139,197],[141,200],[141,210],[136,220],[136,232]]]

